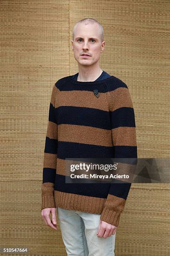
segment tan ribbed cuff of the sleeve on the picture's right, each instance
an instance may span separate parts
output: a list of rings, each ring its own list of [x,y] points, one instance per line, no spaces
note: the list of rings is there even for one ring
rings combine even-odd
[[[114,212],[112,210],[108,210],[107,208],[104,208],[102,210],[100,220],[103,220],[107,223],[118,226],[119,225],[119,219],[120,219],[120,212]]]

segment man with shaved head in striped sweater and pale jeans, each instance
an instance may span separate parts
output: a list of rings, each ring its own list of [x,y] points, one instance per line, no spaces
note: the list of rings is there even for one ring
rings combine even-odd
[[[97,20],[77,22],[72,50],[79,72],[59,79],[50,100],[42,218],[57,229],[57,209],[70,256],[115,255],[115,233],[131,184],[66,183],[67,158],[137,158],[129,90],[124,82],[100,68],[104,48],[103,28]]]

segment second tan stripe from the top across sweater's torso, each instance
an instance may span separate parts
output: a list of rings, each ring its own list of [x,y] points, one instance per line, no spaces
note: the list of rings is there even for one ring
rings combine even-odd
[[[113,146],[111,130],[86,125],[58,125],[58,140],[97,146]]]

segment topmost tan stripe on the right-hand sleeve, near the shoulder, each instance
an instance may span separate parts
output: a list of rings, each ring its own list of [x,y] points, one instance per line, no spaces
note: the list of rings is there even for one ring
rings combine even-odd
[[[120,87],[113,91],[106,92],[106,97],[110,102],[110,111],[114,111],[117,108],[122,107],[133,108],[133,103],[128,88]]]

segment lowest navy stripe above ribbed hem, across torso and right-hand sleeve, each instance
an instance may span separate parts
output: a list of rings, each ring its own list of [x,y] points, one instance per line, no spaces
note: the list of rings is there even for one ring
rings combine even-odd
[[[112,195],[126,199],[130,187],[128,183],[114,183],[110,190],[110,183],[65,183],[65,176],[60,174],[56,174],[55,180],[55,190],[89,197],[107,198],[110,191]]]

